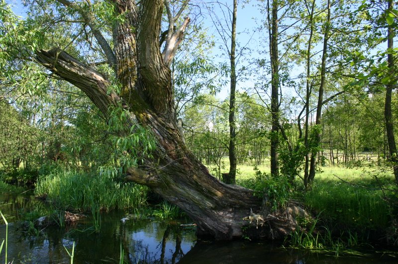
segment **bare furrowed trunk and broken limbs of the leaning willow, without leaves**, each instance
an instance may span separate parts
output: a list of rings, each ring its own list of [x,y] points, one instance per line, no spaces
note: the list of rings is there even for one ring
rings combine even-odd
[[[59,1],[65,8],[75,8],[69,1]],[[197,223],[199,235],[216,239],[242,236],[242,226],[249,224],[243,218],[250,215],[251,209],[260,212],[262,201],[252,190],[224,184],[211,176],[185,146],[175,120],[169,66],[190,21],[185,18],[175,30],[174,25],[188,0],[175,16],[168,0],[140,1],[139,4],[135,0],[112,2],[116,12],[124,15],[112,28],[113,50],[96,28],[93,14],[82,13],[82,18],[97,32],[97,42],[121,84],[120,94],[107,92],[110,82],[104,75],[57,47],[37,51],[37,61],[58,78],[80,88],[105,116],[109,107],[123,105],[129,111],[126,131],[132,124],[139,124],[152,132],[157,141],[153,159],[146,159],[140,168],[129,168],[127,179],[149,186],[186,211]],[[161,52],[159,32],[164,7],[169,28]],[[291,214],[281,211],[275,217],[276,214],[267,212],[264,210],[262,217],[267,224],[252,226],[252,237],[276,238],[295,229],[296,221]]]

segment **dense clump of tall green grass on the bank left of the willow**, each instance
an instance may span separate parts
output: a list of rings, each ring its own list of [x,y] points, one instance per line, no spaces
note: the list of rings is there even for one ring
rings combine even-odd
[[[138,208],[146,205],[147,188],[112,178],[61,171],[38,179],[37,196],[59,208],[90,211],[93,204],[101,210]]]

